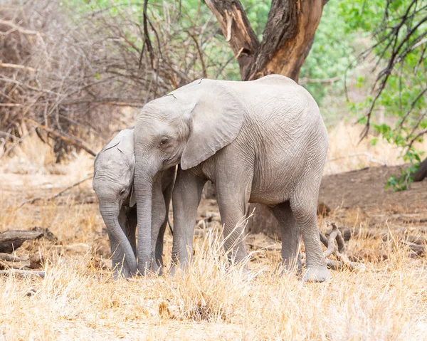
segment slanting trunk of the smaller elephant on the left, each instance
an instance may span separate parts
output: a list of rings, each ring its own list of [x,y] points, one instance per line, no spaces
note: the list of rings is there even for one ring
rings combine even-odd
[[[105,204],[100,206],[102,219],[105,221],[110,234],[115,238],[118,247],[121,248],[122,253],[125,255],[125,262],[129,266],[131,275],[137,273],[137,258],[132,250],[130,241],[127,239],[125,231],[122,230],[119,224],[119,208],[117,203]]]

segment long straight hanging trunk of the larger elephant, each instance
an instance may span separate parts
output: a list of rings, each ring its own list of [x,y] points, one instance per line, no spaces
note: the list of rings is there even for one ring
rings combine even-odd
[[[145,275],[152,262],[152,188],[153,176],[147,172],[150,165],[137,158],[135,162],[135,194],[138,215],[138,270]]]

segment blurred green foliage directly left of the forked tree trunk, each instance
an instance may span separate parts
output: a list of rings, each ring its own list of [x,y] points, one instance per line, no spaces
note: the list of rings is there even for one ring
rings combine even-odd
[[[117,18],[117,24],[120,24],[120,16],[126,16],[127,19],[140,24],[143,21],[143,4],[144,1],[128,0],[70,0],[64,6],[68,6],[68,9],[76,15],[103,13],[113,19]],[[252,9],[255,15],[262,10],[262,6],[255,6]],[[129,18],[130,13],[132,18]],[[195,76],[191,75],[191,78],[203,77],[202,68],[204,66],[209,78],[240,80],[240,70],[236,59],[233,58],[233,51],[218,31],[216,19],[203,0],[182,0],[181,5],[178,0],[150,0],[147,6],[147,17],[154,23],[154,26],[160,27],[160,31],[167,36],[167,41],[180,47],[181,51],[173,51],[170,46],[164,44],[162,35],[161,41],[158,42],[155,32],[149,25],[149,37],[154,52],[162,50],[162,53],[167,53],[168,60],[174,63],[176,70],[186,73],[188,65],[193,63],[191,62],[192,56],[197,55],[197,61],[193,64],[193,69],[197,73]],[[157,29],[159,30],[159,28]],[[190,32],[195,32],[196,35],[191,36]],[[142,33],[135,34],[135,30],[130,29],[126,38],[135,43],[134,45],[139,51],[142,50],[144,43]],[[200,51],[203,53],[203,63],[201,63],[199,51],[196,50],[193,39],[199,43]],[[188,57],[181,58],[182,54],[186,54]]]

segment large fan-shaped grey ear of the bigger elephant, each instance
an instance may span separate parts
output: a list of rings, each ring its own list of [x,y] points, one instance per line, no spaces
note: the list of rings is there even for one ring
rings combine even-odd
[[[197,166],[233,142],[245,111],[237,96],[218,80],[202,80],[188,93],[194,93],[196,102],[189,106],[190,135],[181,156],[182,169]]]

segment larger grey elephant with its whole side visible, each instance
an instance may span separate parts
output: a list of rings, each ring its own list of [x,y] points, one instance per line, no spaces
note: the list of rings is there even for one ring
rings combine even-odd
[[[327,147],[315,100],[281,75],[249,82],[196,80],[148,103],[135,126],[139,269],[151,262],[146,237],[154,224],[150,198],[159,196],[157,173],[180,164],[172,197],[174,263],[185,267],[189,261],[201,190],[211,180],[231,261],[246,257],[243,226],[236,225],[248,202],[257,202],[269,206],[280,223],[285,268],[297,266],[301,234],[304,280],[326,280],[316,207]]]

